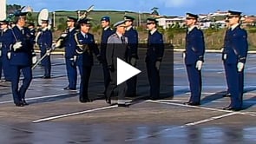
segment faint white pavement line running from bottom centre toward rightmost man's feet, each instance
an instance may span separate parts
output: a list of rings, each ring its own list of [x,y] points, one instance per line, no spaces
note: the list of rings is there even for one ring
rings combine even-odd
[[[213,116],[213,117],[210,117],[208,119],[204,119],[204,120],[200,120],[200,121],[194,121],[194,122],[189,122],[189,123],[187,123],[185,125],[182,125],[182,126],[179,126],[179,127],[165,128],[165,129],[162,129],[161,131],[156,132],[154,134],[146,134],[146,135],[143,135],[143,136],[139,136],[139,137],[137,137],[135,139],[127,139],[125,141],[139,141],[141,139],[147,139],[147,138],[150,138],[150,137],[154,137],[156,135],[160,135],[160,134],[163,134],[163,133],[165,133],[167,131],[171,131],[171,130],[174,130],[174,129],[187,128],[187,127],[191,127],[191,126],[198,125],[198,124],[201,124],[201,123],[206,123],[208,121],[214,121],[214,120],[222,119],[224,117],[228,117],[228,116],[236,115],[236,114],[237,114],[236,112],[233,112],[233,113],[228,113],[226,115]]]

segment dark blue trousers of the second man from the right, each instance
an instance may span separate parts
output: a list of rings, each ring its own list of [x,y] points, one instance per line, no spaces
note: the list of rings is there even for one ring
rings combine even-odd
[[[202,79],[201,71],[195,68],[195,64],[186,65],[187,77],[190,87],[190,100],[192,102],[200,102]]]

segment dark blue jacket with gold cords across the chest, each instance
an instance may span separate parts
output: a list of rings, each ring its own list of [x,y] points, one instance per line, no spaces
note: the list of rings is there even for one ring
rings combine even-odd
[[[94,63],[93,53],[95,56],[99,55],[99,49],[95,44],[95,37],[87,33],[86,37],[82,36],[81,32],[74,35],[75,40],[75,55],[77,56],[76,64],[78,66],[92,66]]]

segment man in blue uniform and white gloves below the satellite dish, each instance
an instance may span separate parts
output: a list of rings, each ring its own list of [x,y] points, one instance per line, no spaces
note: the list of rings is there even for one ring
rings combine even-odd
[[[42,29],[37,33],[37,44],[41,51],[41,57],[44,56],[46,53],[48,54],[45,56],[41,62],[42,66],[44,67],[44,79],[50,78],[50,70],[51,70],[51,62],[50,62],[50,55],[49,51],[52,45],[52,33],[51,30],[48,28],[49,20],[42,20]]]

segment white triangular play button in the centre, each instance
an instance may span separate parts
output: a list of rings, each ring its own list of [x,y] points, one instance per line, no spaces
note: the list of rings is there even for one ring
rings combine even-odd
[[[117,57],[117,85],[119,85],[121,82],[127,81],[129,78],[133,77],[134,75],[138,75],[139,73],[141,73],[141,70],[136,69],[127,62],[123,62]]]

